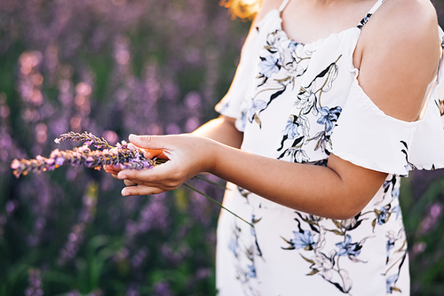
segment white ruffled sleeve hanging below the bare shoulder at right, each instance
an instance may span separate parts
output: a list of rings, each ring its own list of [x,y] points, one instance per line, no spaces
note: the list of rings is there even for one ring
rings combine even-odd
[[[406,176],[412,169],[444,167],[442,63],[441,59],[437,83],[431,84],[424,114],[414,122],[386,115],[354,79],[330,137],[329,152],[355,165],[394,175]]]

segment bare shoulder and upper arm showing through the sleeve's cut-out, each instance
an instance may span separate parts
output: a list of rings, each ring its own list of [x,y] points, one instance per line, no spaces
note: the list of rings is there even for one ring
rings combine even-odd
[[[416,121],[438,68],[438,23],[429,4],[387,1],[362,29],[355,51],[362,90],[384,113],[402,121]]]

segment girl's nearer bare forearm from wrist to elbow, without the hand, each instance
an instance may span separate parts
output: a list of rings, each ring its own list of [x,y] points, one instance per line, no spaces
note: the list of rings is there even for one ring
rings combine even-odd
[[[354,166],[334,155],[330,159],[329,167],[320,167],[216,145],[210,173],[283,206],[346,219],[367,205],[386,174]]]

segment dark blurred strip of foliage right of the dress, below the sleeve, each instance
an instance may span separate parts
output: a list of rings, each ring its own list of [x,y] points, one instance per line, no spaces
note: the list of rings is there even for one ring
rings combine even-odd
[[[415,172],[402,180],[400,202],[408,238],[411,294],[443,295],[444,179],[442,170]],[[432,177],[432,181],[428,180]],[[424,191],[414,191],[422,186]]]

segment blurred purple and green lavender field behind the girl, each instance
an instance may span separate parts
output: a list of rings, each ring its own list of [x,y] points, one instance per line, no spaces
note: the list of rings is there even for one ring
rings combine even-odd
[[[0,0],[0,296],[216,294],[209,200],[184,186],[123,198],[104,171],[17,179],[10,165],[78,146],[54,143],[70,130],[110,144],[194,130],[217,116],[249,27],[218,0]],[[403,181],[412,294],[444,295],[444,173]]]

